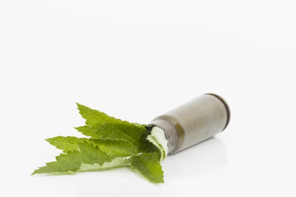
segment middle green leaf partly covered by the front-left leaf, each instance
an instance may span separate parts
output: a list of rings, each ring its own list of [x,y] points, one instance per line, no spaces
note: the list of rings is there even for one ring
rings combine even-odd
[[[78,142],[88,141],[98,146],[100,150],[104,151],[111,157],[130,157],[138,155],[137,148],[127,141],[117,141],[111,139],[89,139],[89,138],[78,138],[73,136],[57,136],[49,139],[45,139],[51,145],[57,149],[63,150],[64,153],[67,151],[79,150]]]

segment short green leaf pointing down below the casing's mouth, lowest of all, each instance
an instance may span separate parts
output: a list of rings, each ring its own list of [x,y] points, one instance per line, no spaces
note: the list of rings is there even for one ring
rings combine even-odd
[[[131,168],[152,183],[164,183],[163,171],[158,162],[158,152],[143,153],[130,159]]]

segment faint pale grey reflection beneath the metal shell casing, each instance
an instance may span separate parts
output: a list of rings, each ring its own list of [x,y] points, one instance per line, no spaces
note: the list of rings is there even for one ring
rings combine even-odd
[[[162,166],[166,180],[170,180],[178,177],[208,175],[217,169],[223,172],[226,162],[224,144],[219,138],[212,137],[167,157]]]

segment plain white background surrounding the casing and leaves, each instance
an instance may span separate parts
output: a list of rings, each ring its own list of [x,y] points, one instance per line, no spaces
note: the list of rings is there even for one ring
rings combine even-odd
[[[0,0],[1,197],[295,197],[295,0]],[[80,136],[75,102],[138,123],[204,93],[229,127],[128,168],[30,174]]]

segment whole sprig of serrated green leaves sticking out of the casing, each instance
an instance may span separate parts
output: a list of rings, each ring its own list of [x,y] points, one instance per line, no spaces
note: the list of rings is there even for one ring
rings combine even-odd
[[[122,121],[76,104],[86,122],[75,129],[88,137],[57,136],[45,139],[63,153],[56,157],[55,162],[38,167],[32,175],[129,166],[152,183],[164,183],[160,163],[166,153],[153,136],[151,127]]]

